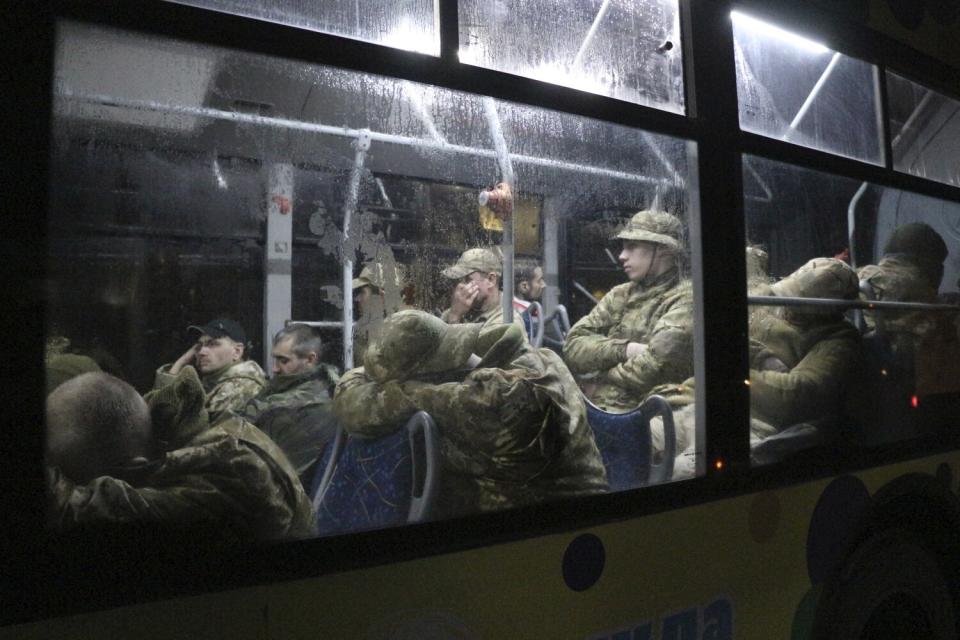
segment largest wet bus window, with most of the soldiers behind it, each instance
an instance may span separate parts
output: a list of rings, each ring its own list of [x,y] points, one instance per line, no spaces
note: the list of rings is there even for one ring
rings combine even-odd
[[[689,142],[72,23],[54,108],[56,522],[168,513],[241,538],[331,534],[694,473]],[[656,309],[614,323],[631,278],[659,287]],[[547,346],[528,351],[538,327]],[[578,385],[610,411],[670,404],[652,441],[634,439],[634,423],[591,425]],[[88,431],[76,399],[107,393],[129,411]],[[205,438],[234,444],[184,451]],[[687,467],[651,470],[678,455]],[[424,468],[433,480],[408,486]],[[94,498],[70,502],[77,486]]]

